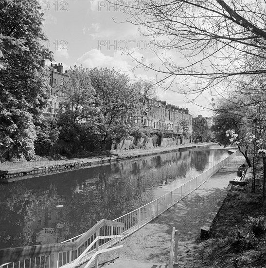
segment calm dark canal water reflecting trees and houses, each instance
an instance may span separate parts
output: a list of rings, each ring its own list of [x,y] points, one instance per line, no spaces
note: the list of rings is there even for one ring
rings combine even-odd
[[[0,184],[0,248],[57,243],[172,191],[229,155],[219,146]]]

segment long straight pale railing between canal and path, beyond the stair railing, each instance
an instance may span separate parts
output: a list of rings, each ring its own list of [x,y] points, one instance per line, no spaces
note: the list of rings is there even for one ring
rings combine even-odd
[[[124,223],[124,228],[122,228],[122,234],[124,235],[124,238],[142,228],[148,222],[156,218],[162,212],[168,210],[192,191],[195,191],[215,172],[226,165],[236,155],[236,153],[237,152],[232,153],[209,170],[199,174],[195,178],[174,189],[173,191],[160,196],[159,198],[151,201],[139,209],[128,212],[127,214],[115,219],[114,221]]]

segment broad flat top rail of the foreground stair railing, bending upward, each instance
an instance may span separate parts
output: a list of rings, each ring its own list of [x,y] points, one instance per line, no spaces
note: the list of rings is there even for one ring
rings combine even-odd
[[[124,223],[102,219],[74,242],[0,249],[0,263],[23,261],[25,259],[75,250],[104,225],[124,227]]]

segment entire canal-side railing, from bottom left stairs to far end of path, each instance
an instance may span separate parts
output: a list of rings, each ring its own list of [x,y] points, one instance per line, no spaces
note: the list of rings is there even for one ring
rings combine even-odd
[[[88,249],[92,241],[98,236],[108,237],[102,239],[99,244],[99,250],[107,249],[118,243],[133,232],[139,230],[152,219],[156,218],[162,212],[175,205],[182,198],[206,182],[215,172],[227,164],[237,152],[214,165],[209,170],[196,176],[182,186],[170,191],[156,200],[142,206],[139,209],[131,211],[113,221],[101,220],[87,232],[68,239],[59,244],[36,245],[30,247],[21,247],[14,249],[0,249],[0,261],[5,264],[0,268],[72,268],[72,263],[77,260],[86,250],[76,265],[85,263],[96,253],[96,244]],[[110,222],[123,223],[124,227],[112,226]],[[100,225],[101,223],[101,225]],[[115,225],[115,223],[114,223]],[[97,226],[97,228],[96,228]],[[88,250],[87,250],[88,249]],[[37,252],[37,253],[35,253]],[[45,252],[41,254],[40,252]],[[49,252],[49,253],[47,253]],[[6,257],[8,254],[9,257]],[[96,254],[97,255],[97,254]],[[96,255],[94,257],[96,257]],[[18,256],[18,257],[14,257]],[[25,259],[23,259],[25,256]],[[27,257],[26,256],[30,256]],[[76,262],[75,262],[76,263]]]

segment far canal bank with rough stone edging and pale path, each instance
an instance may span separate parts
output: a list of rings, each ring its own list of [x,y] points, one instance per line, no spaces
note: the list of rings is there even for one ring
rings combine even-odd
[[[111,162],[142,157],[146,155],[183,151],[196,147],[214,145],[214,143],[190,143],[185,145],[175,145],[168,147],[156,147],[152,149],[138,150],[112,150],[111,156],[100,156],[93,158],[75,158],[68,160],[39,160],[29,162],[5,162],[0,163],[0,183],[14,182],[32,177],[34,174],[46,174],[49,172],[62,172],[68,169],[77,169],[96,165],[108,164]]]

